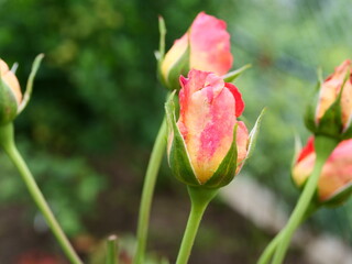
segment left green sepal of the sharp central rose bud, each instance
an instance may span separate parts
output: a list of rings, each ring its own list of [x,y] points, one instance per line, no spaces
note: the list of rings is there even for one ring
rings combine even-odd
[[[187,153],[186,144],[184,138],[182,136],[178,127],[176,124],[175,117],[175,102],[174,96],[176,91],[174,91],[165,103],[166,110],[166,121],[168,128],[168,142],[172,141],[167,147],[168,151],[168,164],[174,174],[174,176],[190,186],[199,186],[200,183],[197,179],[194,169],[190,164],[190,160]]]

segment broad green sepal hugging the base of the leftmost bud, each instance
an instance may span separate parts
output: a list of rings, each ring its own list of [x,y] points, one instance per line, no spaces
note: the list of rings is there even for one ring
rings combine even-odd
[[[16,116],[18,101],[15,96],[12,89],[0,78],[0,125],[13,121]]]

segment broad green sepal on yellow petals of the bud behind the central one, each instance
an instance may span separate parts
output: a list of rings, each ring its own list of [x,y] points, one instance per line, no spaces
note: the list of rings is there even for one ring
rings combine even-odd
[[[188,33],[189,34],[189,33]],[[190,45],[188,37],[188,45],[184,54],[172,65],[166,79],[164,80],[167,88],[170,90],[180,90],[179,76],[187,76],[189,72],[189,57],[190,57]]]

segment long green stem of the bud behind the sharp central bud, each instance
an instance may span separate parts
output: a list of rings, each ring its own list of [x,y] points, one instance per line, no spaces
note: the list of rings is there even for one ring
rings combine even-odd
[[[165,148],[166,148],[166,121],[164,118],[163,123],[157,133],[154,147],[152,151],[152,155],[150,158],[150,163],[147,165],[147,169],[145,174],[141,206],[140,206],[138,231],[136,231],[138,245],[136,245],[136,253],[133,260],[134,264],[144,263],[152,198],[154,194],[157,173],[161,167]]]

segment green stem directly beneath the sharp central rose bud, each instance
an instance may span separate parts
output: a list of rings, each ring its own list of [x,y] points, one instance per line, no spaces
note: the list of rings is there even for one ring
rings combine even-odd
[[[191,201],[190,213],[176,264],[187,264],[202,215],[205,213],[209,202],[218,194],[218,189],[205,189],[201,187],[188,186],[188,194]]]

